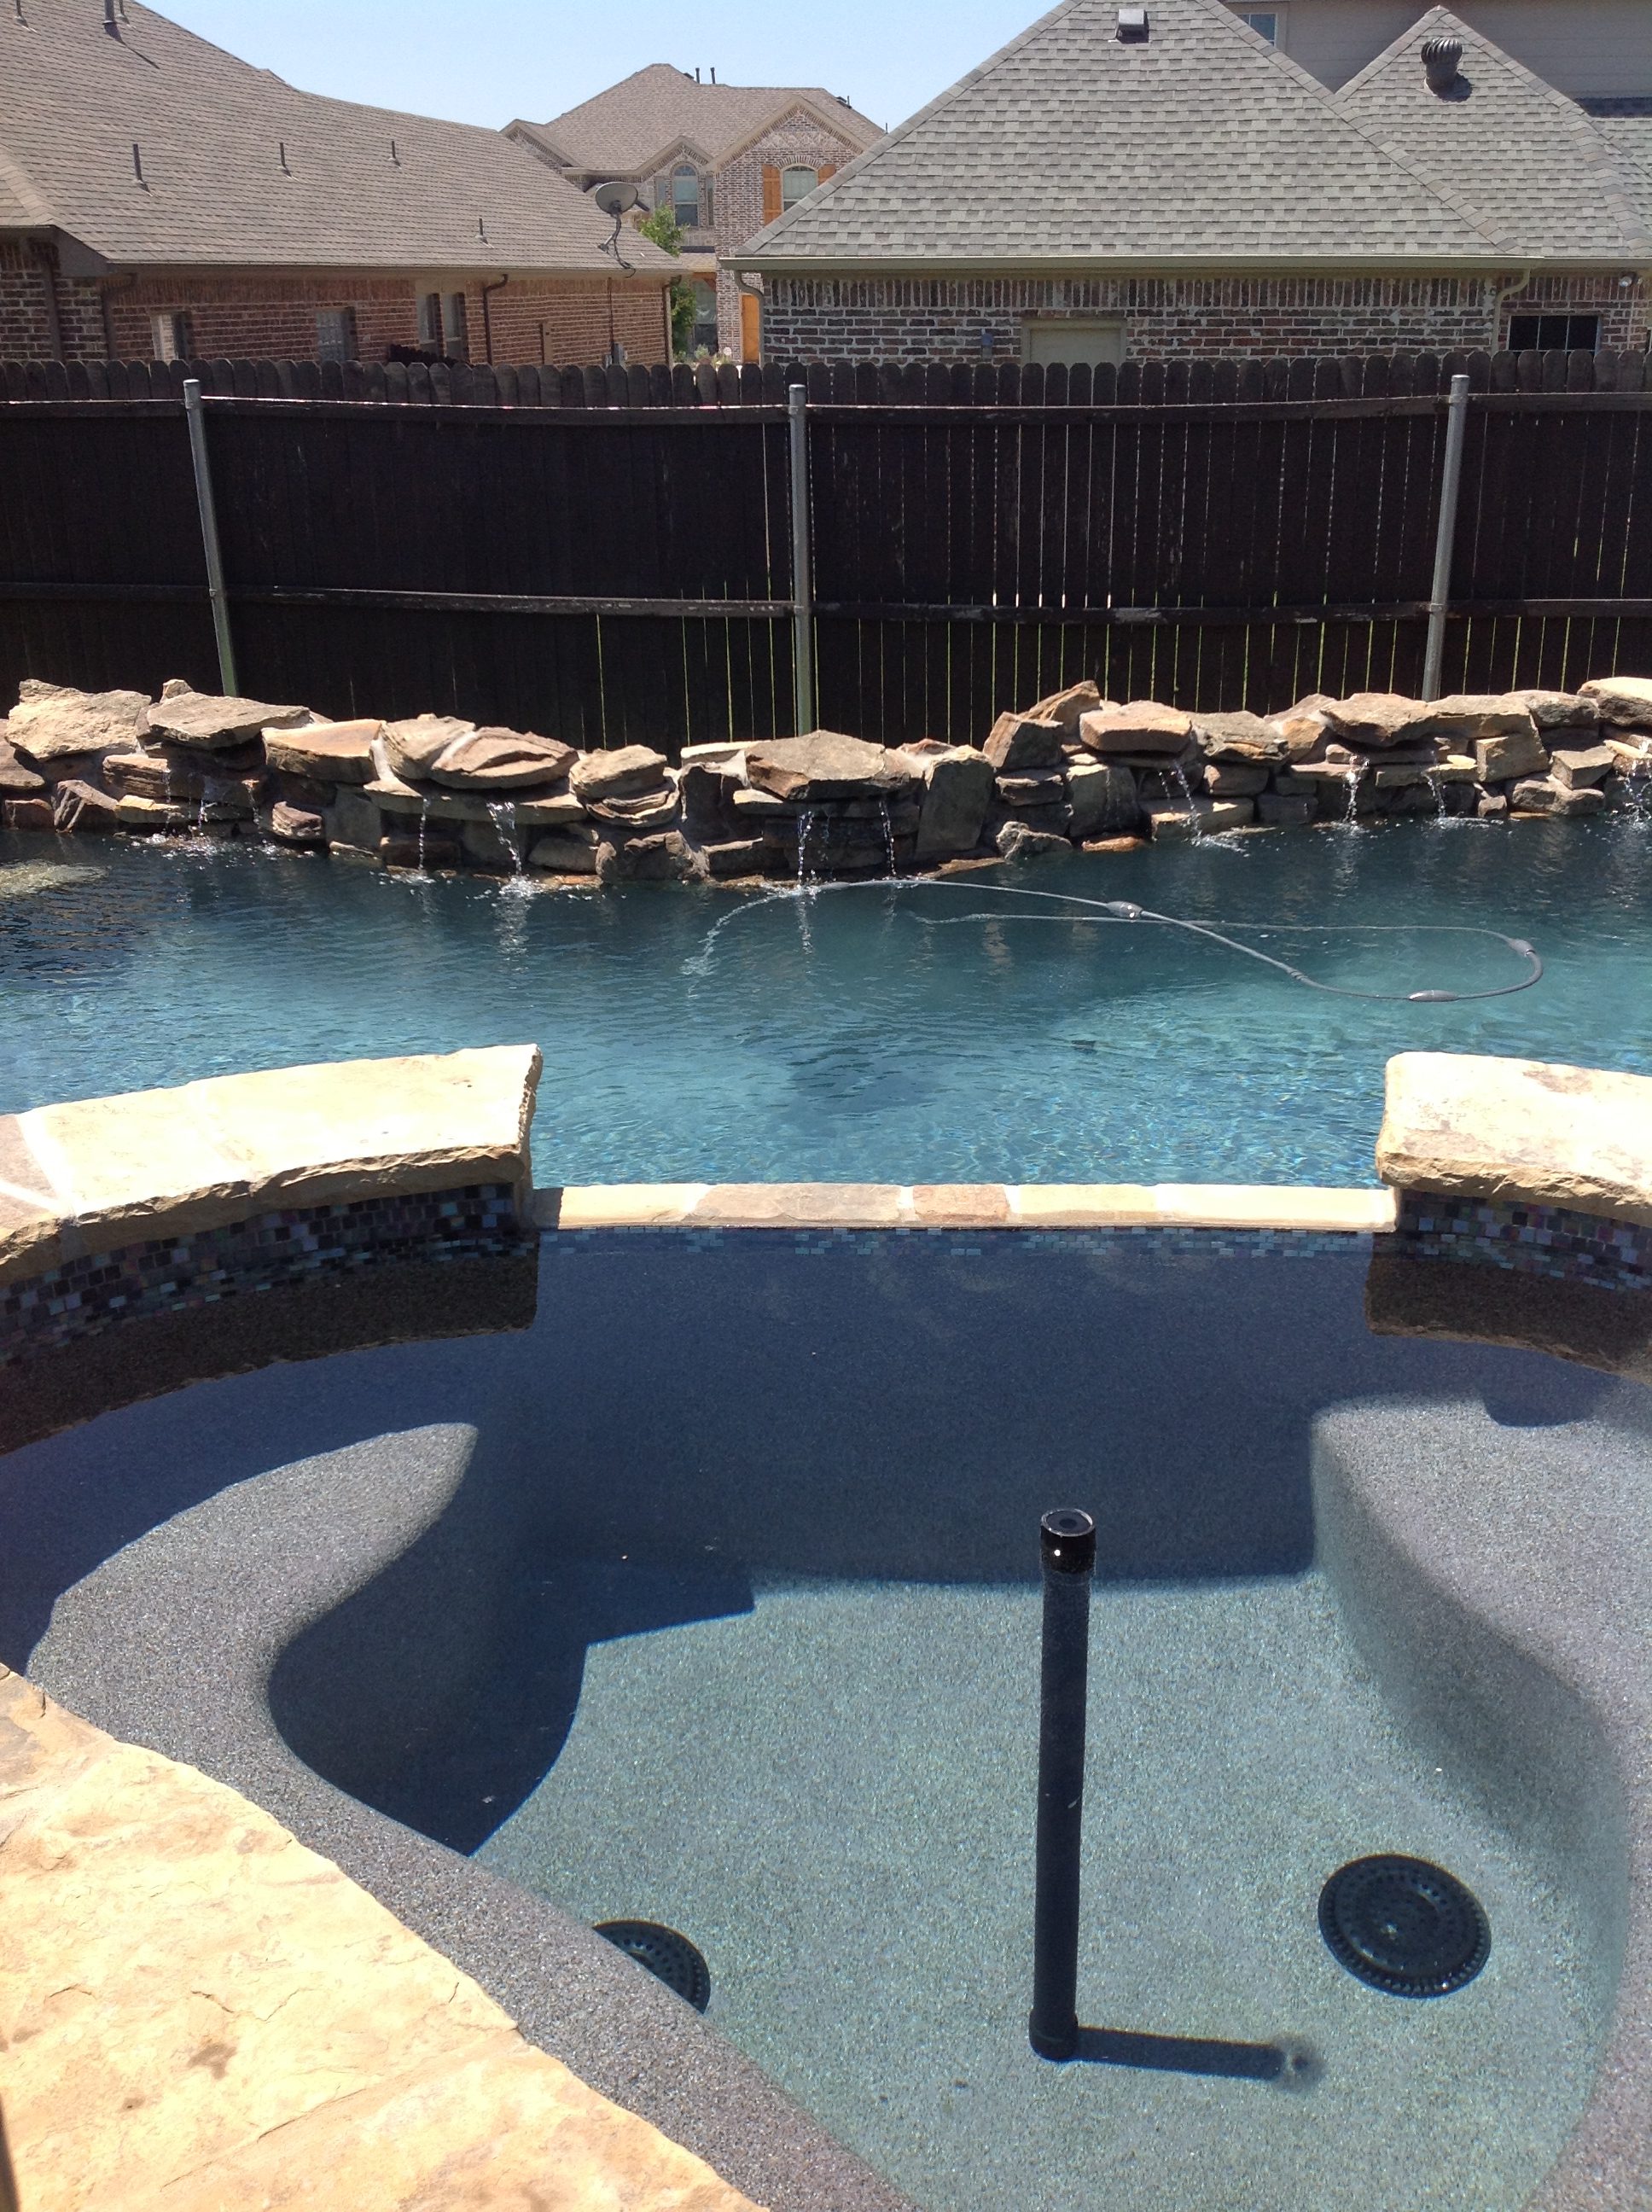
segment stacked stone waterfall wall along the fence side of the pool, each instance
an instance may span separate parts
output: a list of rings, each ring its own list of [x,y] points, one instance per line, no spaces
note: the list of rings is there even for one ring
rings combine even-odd
[[[243,836],[396,869],[597,885],[911,874],[1146,838],[1371,816],[1652,812],[1652,679],[1435,701],[1314,695],[1188,714],[1095,684],[1000,714],[982,745],[834,730],[579,752],[451,714],[323,721],[172,681],[159,699],[22,684],[0,821]],[[502,827],[504,818],[504,827]]]

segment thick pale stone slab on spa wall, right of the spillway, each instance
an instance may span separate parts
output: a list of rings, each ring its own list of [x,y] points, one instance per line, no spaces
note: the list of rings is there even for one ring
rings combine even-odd
[[[1378,1175],[1402,1192],[1652,1225],[1652,1077],[1471,1053],[1389,1062]]]

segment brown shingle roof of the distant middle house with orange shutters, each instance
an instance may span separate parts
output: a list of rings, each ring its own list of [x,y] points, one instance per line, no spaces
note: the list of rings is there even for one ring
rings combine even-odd
[[[874,122],[818,84],[697,84],[668,62],[650,62],[595,100],[553,115],[548,124],[511,128],[531,133],[568,168],[644,177],[683,142],[714,166],[801,100],[818,108],[851,146],[871,146],[882,135]]]

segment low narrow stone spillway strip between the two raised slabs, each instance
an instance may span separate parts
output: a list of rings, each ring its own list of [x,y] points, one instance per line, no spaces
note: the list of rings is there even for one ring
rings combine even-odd
[[[533,1192],[544,1230],[1210,1228],[1384,1234],[1391,1190],[1296,1183],[584,1183]]]

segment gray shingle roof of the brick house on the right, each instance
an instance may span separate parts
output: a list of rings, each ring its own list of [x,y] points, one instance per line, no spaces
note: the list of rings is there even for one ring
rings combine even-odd
[[[1415,49],[1444,15],[1334,97],[1223,0],[1150,0],[1146,44],[1115,35],[1117,0],[1062,0],[732,259],[829,274],[1641,254],[1625,161],[1477,33],[1460,35],[1484,86],[1433,113]],[[1435,137],[1464,117],[1466,164]]]

